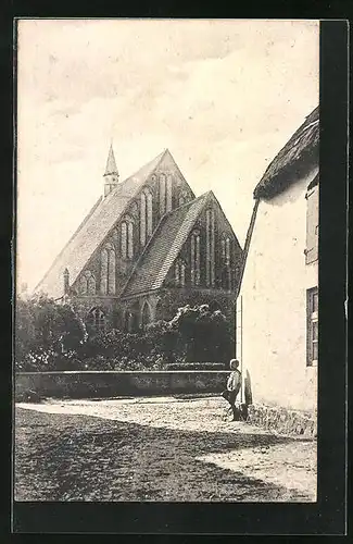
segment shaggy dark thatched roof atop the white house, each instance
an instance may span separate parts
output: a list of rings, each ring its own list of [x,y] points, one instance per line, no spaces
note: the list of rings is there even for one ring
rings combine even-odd
[[[256,185],[254,198],[268,199],[318,164],[319,109],[305,119]]]

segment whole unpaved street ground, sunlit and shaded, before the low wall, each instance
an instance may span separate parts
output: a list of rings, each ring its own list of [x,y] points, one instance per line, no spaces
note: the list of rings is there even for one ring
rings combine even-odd
[[[20,404],[16,499],[315,500],[314,441],[223,412],[215,397]]]

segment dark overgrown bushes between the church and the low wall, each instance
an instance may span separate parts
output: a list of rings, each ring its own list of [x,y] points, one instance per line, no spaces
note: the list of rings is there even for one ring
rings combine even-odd
[[[225,362],[234,335],[225,316],[207,305],[179,308],[134,334],[88,334],[74,309],[43,295],[18,299],[15,312],[16,371],[160,370],[186,362]]]

